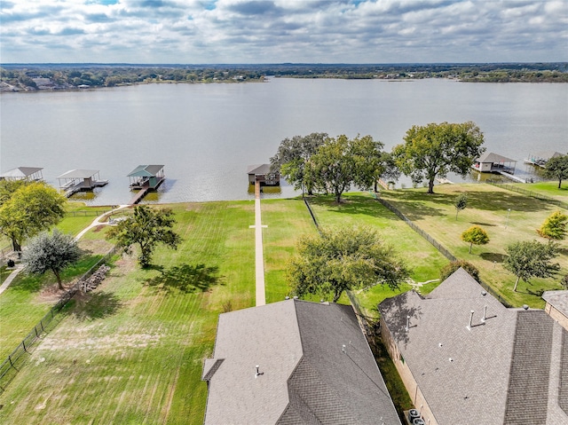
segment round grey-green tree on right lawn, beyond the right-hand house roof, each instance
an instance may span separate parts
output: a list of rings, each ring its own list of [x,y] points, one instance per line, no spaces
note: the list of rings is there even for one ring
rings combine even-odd
[[[536,240],[515,242],[505,248],[507,258],[503,263],[505,269],[517,276],[513,290],[517,292],[520,279],[527,281],[531,278],[548,278],[554,276],[560,265],[551,263],[558,254],[555,242],[540,243]]]

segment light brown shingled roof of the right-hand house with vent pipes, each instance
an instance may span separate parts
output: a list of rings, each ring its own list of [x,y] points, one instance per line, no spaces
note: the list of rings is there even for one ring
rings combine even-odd
[[[568,424],[566,331],[544,311],[505,308],[463,269],[427,297],[398,295],[379,311],[438,423]]]

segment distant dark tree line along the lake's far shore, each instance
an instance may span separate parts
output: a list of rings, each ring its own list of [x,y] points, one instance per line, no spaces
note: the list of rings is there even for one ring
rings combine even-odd
[[[50,88],[80,85],[113,87],[140,83],[243,83],[264,76],[339,79],[453,78],[477,83],[568,83],[568,63],[518,64],[265,64],[265,65],[120,65],[4,64],[4,90],[36,90],[38,78]],[[36,80],[36,81],[35,81]]]

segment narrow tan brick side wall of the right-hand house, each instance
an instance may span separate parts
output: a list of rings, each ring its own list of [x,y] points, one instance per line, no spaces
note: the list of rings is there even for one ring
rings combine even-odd
[[[398,350],[397,343],[392,338],[390,330],[383,319],[381,319],[381,337],[383,338],[384,345],[389,351],[390,358],[392,359],[394,366],[397,368],[400,379],[402,379],[402,382],[405,384],[406,391],[408,391],[408,395],[414,403],[414,408],[420,412],[422,419],[427,425],[438,425],[438,421],[436,421],[436,418],[430,410],[430,405],[428,405],[426,398],[422,394],[422,390],[418,387],[418,384],[414,379],[414,375],[408,366],[406,366],[406,362],[401,356],[400,350]]]

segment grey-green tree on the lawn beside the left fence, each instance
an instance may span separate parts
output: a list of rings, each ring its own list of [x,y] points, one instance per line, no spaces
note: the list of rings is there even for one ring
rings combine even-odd
[[[76,263],[82,254],[73,236],[54,229],[51,235],[42,232],[29,241],[22,255],[22,263],[30,273],[53,272],[59,289],[64,289],[61,272],[68,265]]]

